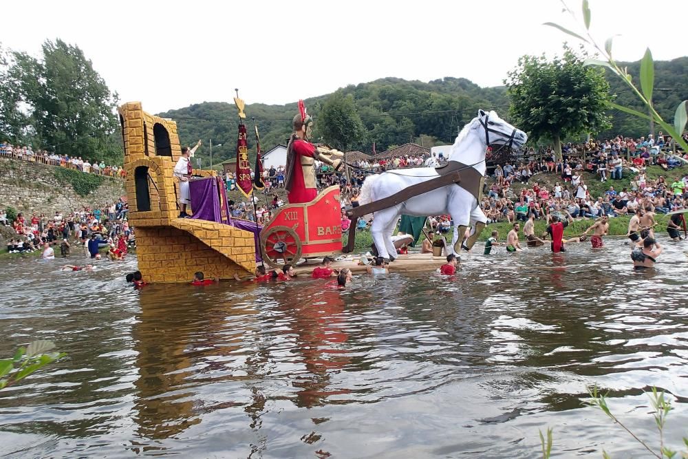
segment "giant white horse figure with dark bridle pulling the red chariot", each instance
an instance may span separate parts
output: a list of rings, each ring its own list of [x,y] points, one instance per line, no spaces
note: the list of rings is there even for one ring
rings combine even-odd
[[[447,168],[459,171],[460,175],[470,173],[475,176],[475,171],[477,171],[482,177],[486,171],[485,153],[488,145],[522,147],[526,140],[528,140],[526,133],[499,118],[494,111],[486,113],[478,110],[477,117],[462,129],[454,141]],[[469,168],[475,171],[469,171]],[[361,198],[358,202],[363,205],[381,200],[408,186],[427,182],[439,176],[440,173],[434,167],[416,167],[369,175],[363,182]],[[391,235],[401,214],[427,217],[448,213],[454,221],[454,233],[449,252],[456,255],[460,253],[467,226],[472,225],[473,232],[466,241],[466,248],[470,250],[487,222],[487,217],[480,209],[480,203],[475,197],[480,192],[480,190],[468,191],[462,188],[461,184],[451,184],[375,212],[371,233],[378,255],[385,259],[394,259],[396,249]]]

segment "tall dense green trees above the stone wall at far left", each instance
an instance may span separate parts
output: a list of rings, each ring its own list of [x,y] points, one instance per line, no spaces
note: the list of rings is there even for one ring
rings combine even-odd
[[[12,52],[3,71],[0,129],[15,142],[89,160],[121,162],[115,108],[108,89],[83,52],[56,40],[43,59]]]

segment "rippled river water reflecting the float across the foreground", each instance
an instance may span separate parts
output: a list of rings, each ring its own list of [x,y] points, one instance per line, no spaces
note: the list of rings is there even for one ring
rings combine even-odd
[[[664,241],[665,239],[660,239]],[[476,248],[477,249],[477,248]],[[3,261],[0,356],[51,339],[69,356],[0,392],[13,458],[647,457],[586,385],[657,447],[649,398],[688,434],[685,244],[635,273],[621,239],[490,257],[433,274],[127,286],[124,264]],[[81,259],[70,260],[82,262]],[[394,267],[392,268],[394,270]]]

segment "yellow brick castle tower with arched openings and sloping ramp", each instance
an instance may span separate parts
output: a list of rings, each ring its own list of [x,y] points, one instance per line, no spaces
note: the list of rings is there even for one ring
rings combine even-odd
[[[136,228],[138,268],[147,282],[189,282],[253,274],[252,233],[226,224],[178,218],[178,183],[172,171],[182,150],[177,124],[147,114],[140,102],[119,107],[125,143],[129,224]],[[194,171],[216,175],[215,171]]]

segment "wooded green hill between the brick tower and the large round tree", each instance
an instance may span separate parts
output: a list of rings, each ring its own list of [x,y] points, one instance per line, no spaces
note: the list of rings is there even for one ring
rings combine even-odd
[[[423,83],[400,78],[382,78],[370,83],[343,88],[353,94],[356,108],[367,130],[367,136],[354,149],[370,152],[385,151],[393,145],[409,142],[423,135],[422,142],[438,145],[453,142],[458,129],[471,120],[479,108],[506,112],[508,102],[503,87],[481,88],[464,78],[442,78]],[[305,100],[308,113],[316,119],[330,94]],[[297,103],[286,105],[246,105],[248,118],[256,118],[261,147],[266,150],[285,143],[291,132],[291,120],[297,114]],[[160,116],[172,118],[179,127],[182,145],[191,145],[201,138],[208,143],[222,143],[213,147],[213,162],[235,156],[237,138],[237,110],[233,104],[206,102],[166,111]],[[252,122],[248,120],[252,129]],[[250,151],[255,151],[254,136],[249,133]],[[208,148],[200,156],[207,158]],[[206,163],[207,165],[207,163]]]

